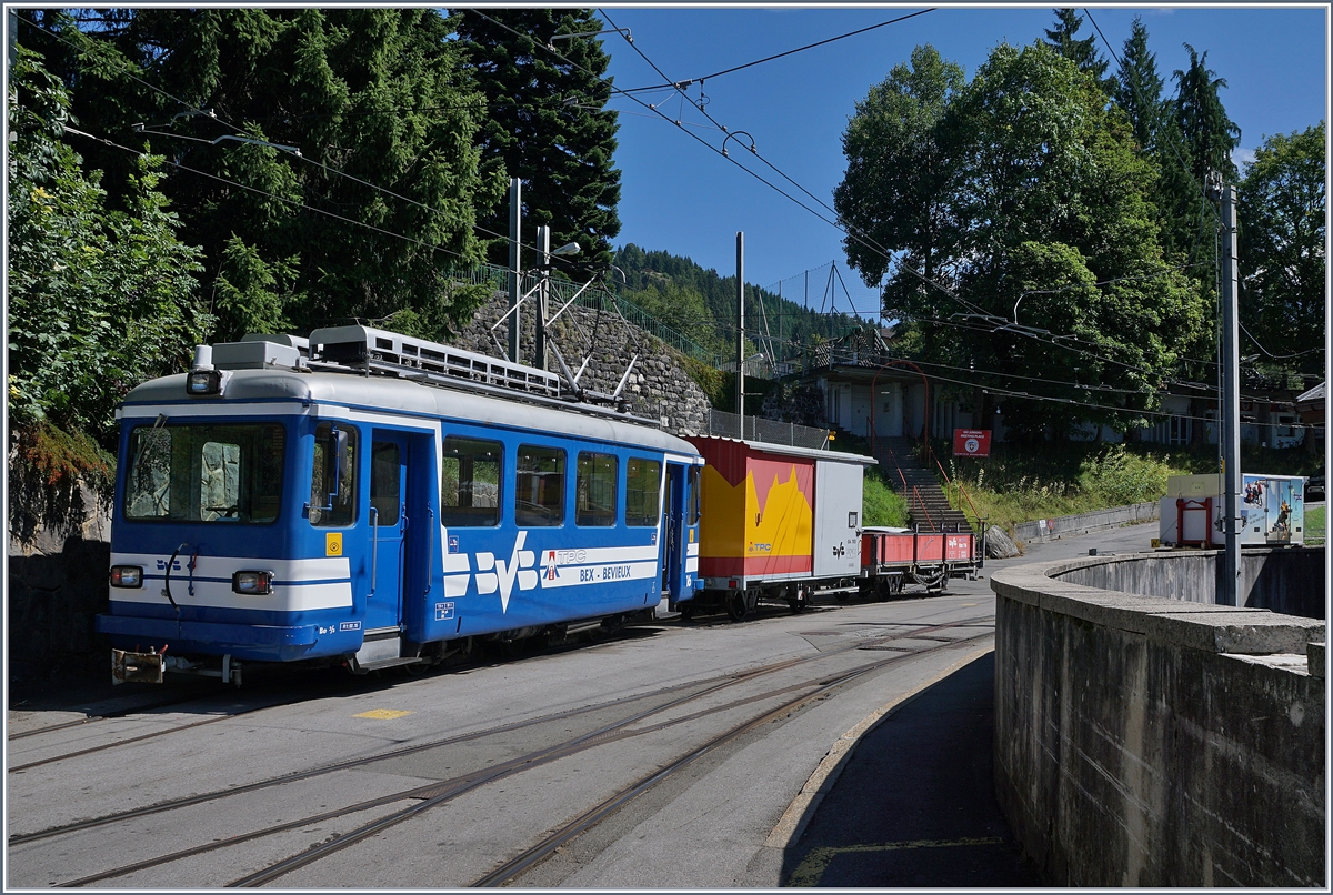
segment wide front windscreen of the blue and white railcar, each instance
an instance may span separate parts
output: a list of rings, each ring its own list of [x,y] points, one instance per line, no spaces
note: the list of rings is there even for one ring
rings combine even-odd
[[[135,426],[124,514],[135,522],[267,523],[281,511],[280,424]]]

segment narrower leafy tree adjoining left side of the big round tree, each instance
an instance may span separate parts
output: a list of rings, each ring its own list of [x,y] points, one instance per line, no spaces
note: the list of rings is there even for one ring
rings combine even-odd
[[[848,225],[848,264],[874,286],[889,274],[889,252],[902,253],[885,286],[886,308],[920,296],[925,286],[916,272],[933,280],[936,246],[953,238],[945,184],[954,177],[956,154],[941,145],[949,135],[940,121],[962,85],[960,65],[942,60],[934,47],[917,47],[910,65],[894,65],[856,104],[842,135],[846,173],[833,190],[833,206]]]

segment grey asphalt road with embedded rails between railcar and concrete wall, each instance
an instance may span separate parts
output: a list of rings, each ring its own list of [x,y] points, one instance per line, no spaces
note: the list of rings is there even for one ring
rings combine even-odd
[[[1140,526],[1034,545],[945,595],[770,610],[742,625],[664,623],[416,679],[279,677],[252,687],[248,677],[241,691],[176,689],[193,698],[159,709],[129,705],[161,693],[144,689],[89,691],[84,705],[48,695],[11,707],[11,737],[83,718],[89,699],[131,710],[9,741],[11,836],[203,800],[11,843],[7,884],[47,887],[143,862],[95,884],[216,887],[411,810],[271,884],[468,886],[628,782],[849,671],[700,752],[513,884],[1036,884],[989,795],[989,571],[1089,547],[1146,549],[1154,534]],[[599,733],[608,725],[615,734]],[[575,742],[551,760],[525,758]],[[496,775],[511,760],[521,767]],[[312,768],[324,770],[257,786]],[[481,778],[432,800],[451,780]],[[257,788],[208,796],[247,784]],[[272,824],[287,826],[245,838]],[[208,843],[225,847],[155,863]]]

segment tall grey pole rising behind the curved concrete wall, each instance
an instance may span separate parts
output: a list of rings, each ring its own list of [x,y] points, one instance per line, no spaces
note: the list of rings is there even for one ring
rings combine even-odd
[[[1208,178],[1212,198],[1222,201],[1222,533],[1226,551],[1217,579],[1217,603],[1241,605],[1241,384],[1240,304],[1236,272],[1236,186]]]

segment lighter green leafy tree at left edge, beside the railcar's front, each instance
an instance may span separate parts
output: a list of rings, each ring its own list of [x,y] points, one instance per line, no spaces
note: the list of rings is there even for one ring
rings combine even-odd
[[[100,172],[87,173],[67,143],[68,91],[21,45],[12,72],[9,485],[31,525],[77,509],[79,477],[108,483],[115,405],[183,369],[211,318],[197,300],[199,250],[180,241],[159,192],[161,160],[136,157],[124,208],[108,209]]]

